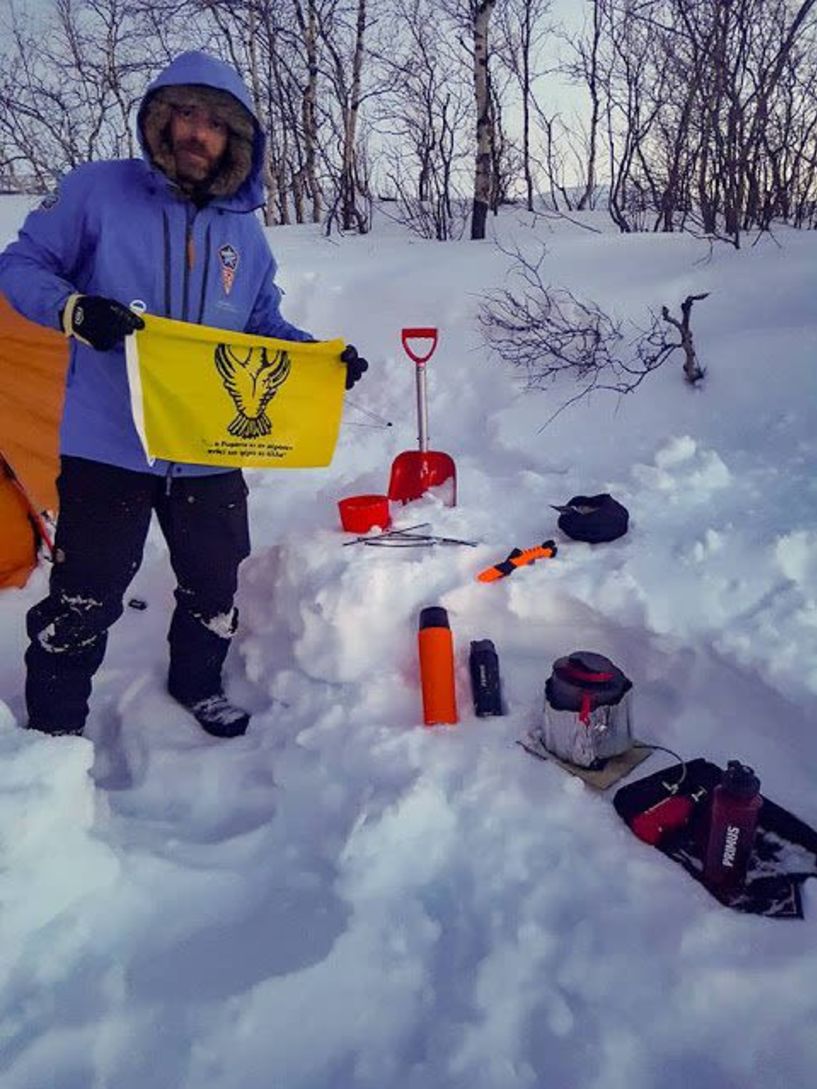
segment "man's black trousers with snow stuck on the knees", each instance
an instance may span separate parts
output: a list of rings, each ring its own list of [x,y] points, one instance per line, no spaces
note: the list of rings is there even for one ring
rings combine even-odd
[[[28,724],[80,733],[108,628],[142,563],[156,511],[176,577],[168,687],[186,703],[221,690],[235,632],[239,564],[249,554],[247,489],[236,469],[160,477],[63,457],[49,595],[27,616]]]

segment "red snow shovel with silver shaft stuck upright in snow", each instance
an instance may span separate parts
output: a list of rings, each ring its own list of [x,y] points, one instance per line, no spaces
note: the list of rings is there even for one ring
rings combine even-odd
[[[398,454],[391,464],[389,480],[389,499],[393,502],[410,503],[419,499],[429,488],[437,488],[451,482],[442,501],[447,506],[456,505],[456,468],[450,454],[428,449],[428,403],[426,401],[426,364],[437,347],[436,329],[404,329],[402,332],[403,347],[410,359],[417,365],[417,427],[419,430],[419,450],[404,450]],[[410,341],[429,340],[431,346],[419,355]]]

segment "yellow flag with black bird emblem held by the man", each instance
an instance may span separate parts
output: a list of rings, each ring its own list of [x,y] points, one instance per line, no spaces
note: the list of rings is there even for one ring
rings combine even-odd
[[[145,328],[125,338],[145,454],[224,467],[328,465],[343,408],[343,347],[145,315]]]

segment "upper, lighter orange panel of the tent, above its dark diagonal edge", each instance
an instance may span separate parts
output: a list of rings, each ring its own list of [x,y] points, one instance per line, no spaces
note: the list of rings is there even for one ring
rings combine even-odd
[[[0,295],[0,452],[37,510],[57,510],[68,358],[61,333],[21,317]]]

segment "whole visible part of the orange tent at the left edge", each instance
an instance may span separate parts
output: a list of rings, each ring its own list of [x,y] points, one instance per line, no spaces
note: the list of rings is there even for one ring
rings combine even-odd
[[[0,588],[37,562],[37,512],[57,510],[68,344],[0,295]]]

